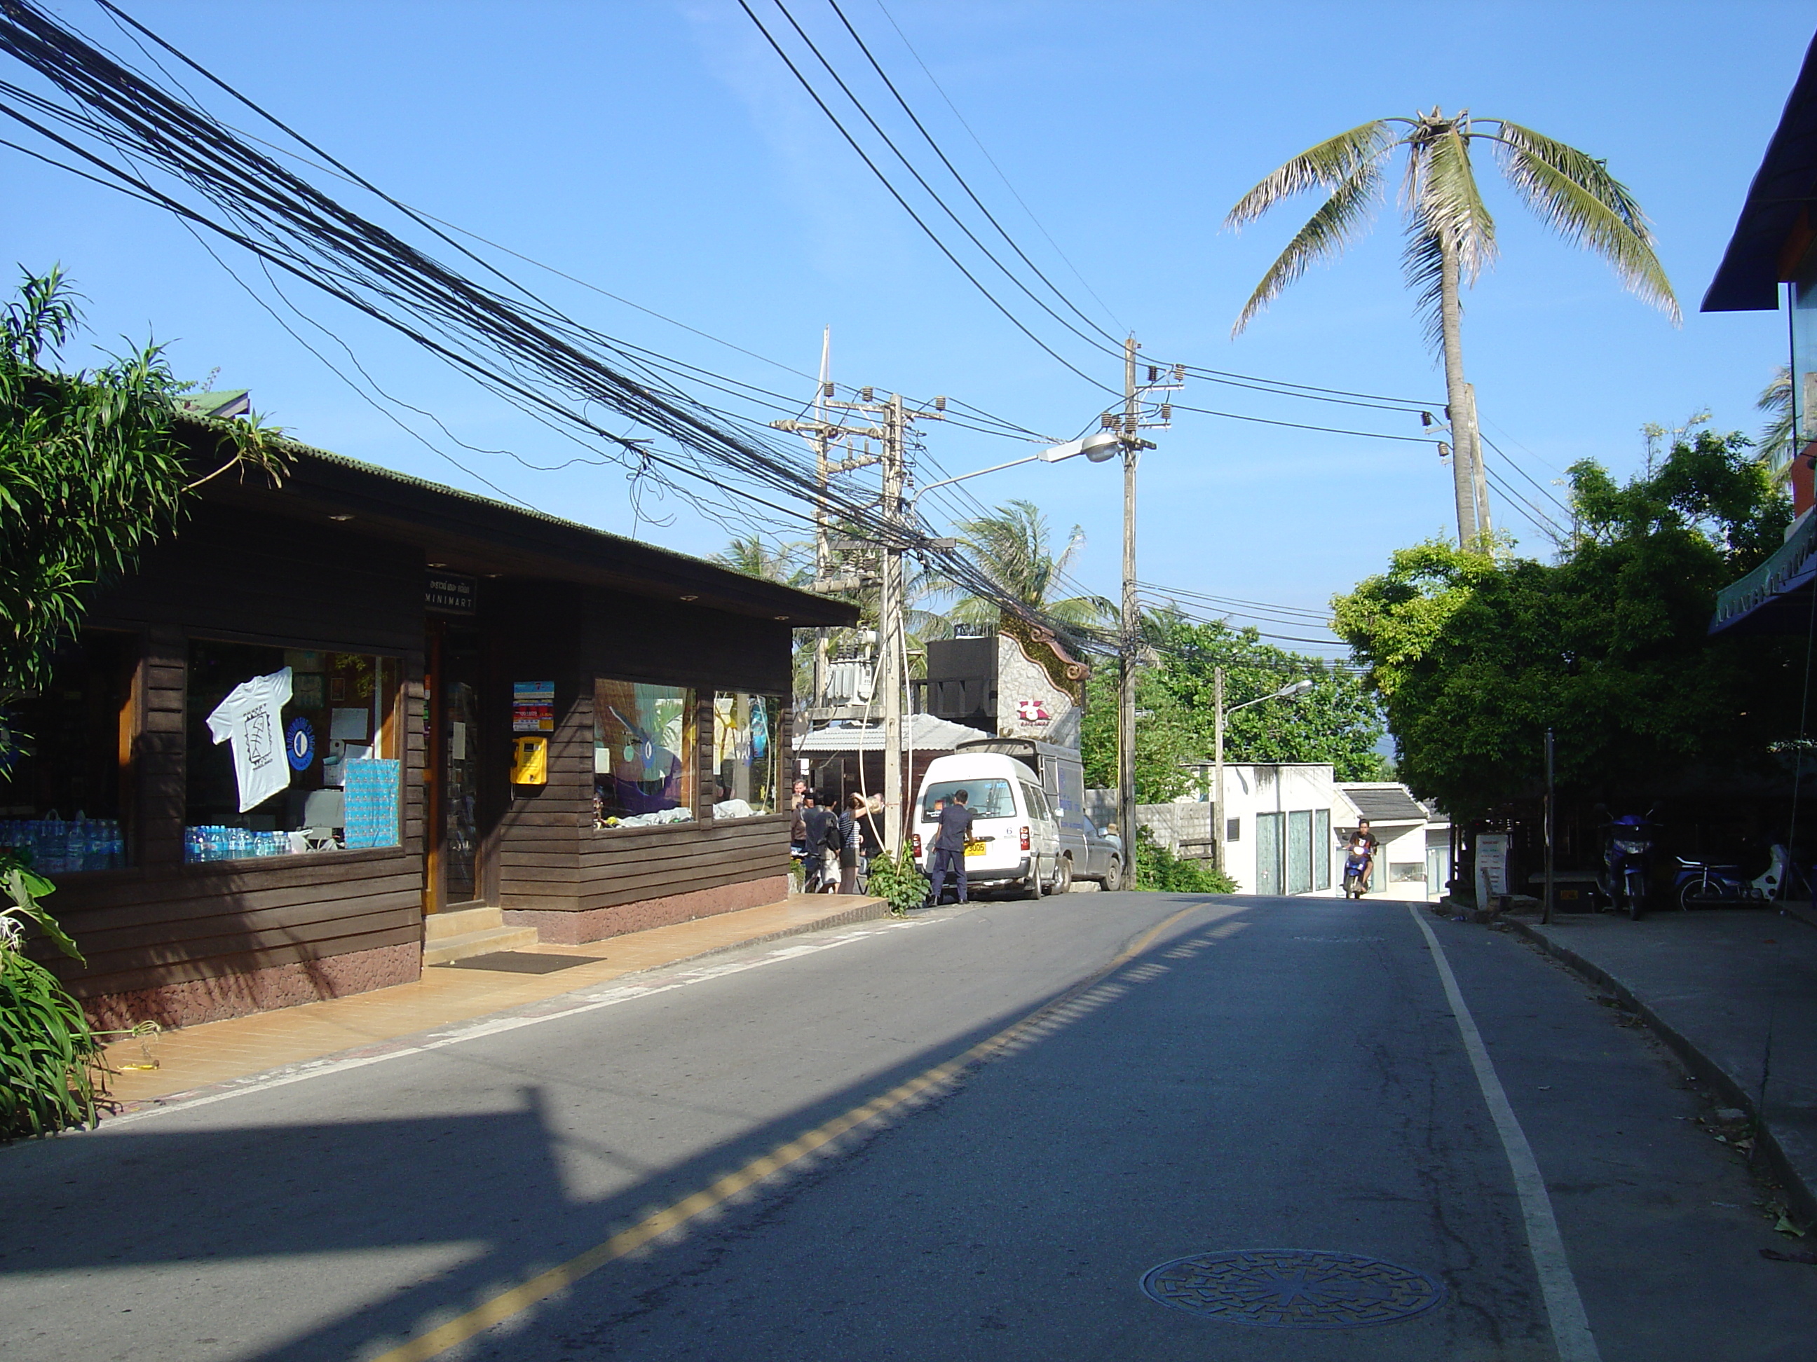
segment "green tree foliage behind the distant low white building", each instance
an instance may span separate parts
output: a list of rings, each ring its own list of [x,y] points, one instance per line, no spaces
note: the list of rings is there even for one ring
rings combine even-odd
[[[1196,625],[1159,610],[1143,621],[1157,663],[1136,683],[1136,799],[1167,803],[1194,788],[1181,766],[1210,761],[1216,710],[1214,672],[1225,668],[1225,706],[1241,705],[1310,679],[1312,690],[1296,701],[1252,705],[1230,716],[1225,761],[1330,761],[1341,781],[1386,775],[1375,743],[1383,726],[1363,683],[1317,657],[1274,648],[1254,628],[1225,623]],[[1117,679],[1114,666],[1092,672],[1083,721],[1085,783],[1116,786]]]

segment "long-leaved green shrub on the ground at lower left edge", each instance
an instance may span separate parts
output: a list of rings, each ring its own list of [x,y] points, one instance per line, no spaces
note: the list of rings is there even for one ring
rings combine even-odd
[[[0,852],[0,892],[11,899],[0,912],[0,1139],[7,1140],[85,1126],[102,1095],[100,1041],[82,1004],[22,950],[25,923],[36,923],[60,952],[82,959],[38,904],[51,888],[18,854]]]

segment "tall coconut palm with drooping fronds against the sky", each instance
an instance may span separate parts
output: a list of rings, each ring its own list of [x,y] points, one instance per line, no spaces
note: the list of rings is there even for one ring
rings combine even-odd
[[[1465,381],[1459,323],[1459,287],[1475,283],[1495,260],[1495,222],[1477,189],[1470,149],[1486,142],[1514,191],[1541,222],[1564,240],[1608,260],[1615,274],[1673,323],[1679,303],[1666,271],[1653,254],[1653,236],[1641,205],[1610,176],[1604,162],[1501,118],[1472,118],[1468,109],[1445,114],[1437,107],[1414,118],[1377,118],[1339,133],[1294,156],[1248,191],[1225,218],[1243,227],[1292,194],[1323,191],[1325,203],[1299,229],[1281,258],[1263,274],[1237,316],[1232,336],[1274,301],[1317,260],[1337,256],[1366,225],[1381,192],[1386,163],[1406,149],[1401,207],[1406,225],[1403,269],[1419,292],[1426,340],[1445,360],[1445,396],[1452,412],[1452,476],[1457,494],[1457,539],[1486,543],[1488,494],[1481,485],[1483,449],[1475,398]]]

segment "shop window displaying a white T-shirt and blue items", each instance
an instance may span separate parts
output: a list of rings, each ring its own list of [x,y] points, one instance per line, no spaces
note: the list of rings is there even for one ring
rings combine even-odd
[[[185,861],[398,844],[398,661],[189,645]]]

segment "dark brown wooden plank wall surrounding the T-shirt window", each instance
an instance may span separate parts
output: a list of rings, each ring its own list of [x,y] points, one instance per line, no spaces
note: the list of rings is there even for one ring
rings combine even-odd
[[[49,906],[87,966],[44,950],[78,997],[213,979],[422,941],[422,554],[204,505],[104,594],[98,627],[142,639],[129,835],[134,866],[58,877]],[[189,639],[400,656],[403,844],[184,863]]]

